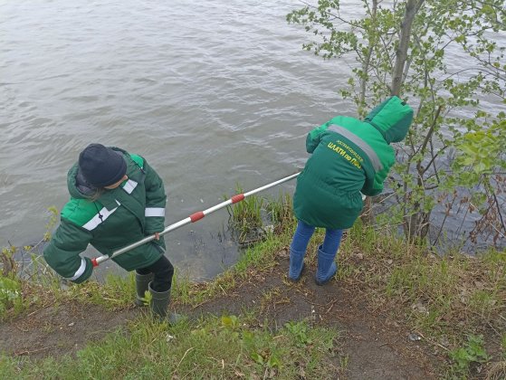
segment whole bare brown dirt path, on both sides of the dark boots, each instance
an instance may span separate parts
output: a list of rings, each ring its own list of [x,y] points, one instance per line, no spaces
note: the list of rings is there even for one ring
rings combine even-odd
[[[431,347],[408,338],[409,331],[382,313],[373,313],[363,290],[332,280],[320,287],[308,266],[297,284],[286,281],[288,254],[279,252],[279,264],[244,281],[220,297],[196,308],[177,308],[189,316],[206,313],[241,314],[255,308],[259,320],[282,326],[289,320],[309,318],[314,324],[335,326],[342,332],[340,357],[347,361],[347,379],[437,378],[438,358]],[[139,309],[117,312],[75,303],[47,307],[0,326],[0,350],[14,356],[62,356],[75,353],[88,341],[99,340],[138,315]],[[336,374],[337,378],[338,374]]]

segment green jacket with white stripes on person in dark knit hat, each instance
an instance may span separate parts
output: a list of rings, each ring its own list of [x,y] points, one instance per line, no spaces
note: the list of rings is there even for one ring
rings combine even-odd
[[[45,261],[62,277],[81,283],[91,276],[92,264],[81,258],[88,244],[102,254],[138,242],[164,230],[167,196],[162,180],[146,160],[117,147],[127,161],[128,180],[90,200],[94,190],[79,173],[77,163],[67,176],[71,200],[61,213],[61,223],[44,249]],[[148,242],[112,259],[127,271],[145,268],[162,256],[163,238]]]

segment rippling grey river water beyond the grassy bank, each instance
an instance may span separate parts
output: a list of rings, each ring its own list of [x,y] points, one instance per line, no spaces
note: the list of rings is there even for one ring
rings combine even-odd
[[[300,6],[0,2],[0,246],[41,239],[47,207],[65,204],[67,170],[91,142],[147,158],[166,184],[167,224],[236,184],[298,171],[310,128],[355,115],[337,93],[351,62],[301,50],[308,34],[285,21]],[[222,210],[168,234],[167,256],[193,279],[213,277],[238,255],[227,220]]]

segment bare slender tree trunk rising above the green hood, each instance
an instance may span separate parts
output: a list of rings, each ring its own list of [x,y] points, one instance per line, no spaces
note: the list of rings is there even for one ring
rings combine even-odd
[[[413,25],[415,15],[420,10],[420,7],[424,4],[424,1],[425,0],[407,0],[406,12],[401,24],[399,46],[396,52],[396,64],[394,66],[394,72],[392,74],[392,95],[399,96],[401,93],[401,87],[404,81],[404,66],[407,60],[407,48],[409,46],[409,40],[411,38],[411,26]]]

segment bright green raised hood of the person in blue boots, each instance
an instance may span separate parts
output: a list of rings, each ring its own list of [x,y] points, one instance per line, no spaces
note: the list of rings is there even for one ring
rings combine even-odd
[[[406,101],[392,96],[372,109],[364,120],[385,138],[387,144],[402,141],[413,121],[413,109]]]

